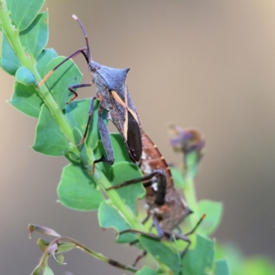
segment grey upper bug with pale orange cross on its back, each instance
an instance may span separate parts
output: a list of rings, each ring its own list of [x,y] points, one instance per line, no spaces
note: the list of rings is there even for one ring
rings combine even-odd
[[[96,96],[91,98],[87,125],[83,138],[82,140],[80,140],[78,146],[83,144],[83,142],[85,141],[89,129],[91,115],[94,111],[94,100],[98,99],[100,100],[98,109],[98,129],[107,157],[102,154],[102,157],[100,159],[96,159],[94,161],[94,164],[96,162],[107,162],[108,164],[113,164],[115,160],[109,132],[107,130],[107,126],[104,124],[102,119],[102,112],[104,110],[107,111],[107,119],[111,120],[113,124],[115,124],[116,128],[122,135],[122,138],[129,153],[129,157],[133,162],[139,164],[142,155],[142,137],[140,120],[138,118],[137,112],[135,111],[135,106],[133,105],[131,96],[126,86],[126,75],[129,72],[129,69],[115,69],[96,63],[96,61],[91,58],[89,41],[83,24],[76,17],[76,15],[73,15],[73,18],[78,21],[80,28],[83,31],[86,41],[86,47],[77,50],[76,52],[65,58],[61,63],[56,65],[56,67],[54,67],[43,78],[43,80],[41,80],[41,83],[39,84],[43,85],[47,78],[49,78],[50,75],[56,69],[58,69],[58,67],[61,67],[61,65],[63,65],[70,58],[74,58],[78,54],[83,54],[85,60],[87,61],[88,69],[91,72],[91,83],[80,83],[69,86],[68,89],[72,92],[72,94],[74,94],[74,96],[72,96],[71,100],[69,100],[67,104],[72,102],[78,96],[78,94],[76,93],[76,89],[78,88],[89,87],[95,84]]]

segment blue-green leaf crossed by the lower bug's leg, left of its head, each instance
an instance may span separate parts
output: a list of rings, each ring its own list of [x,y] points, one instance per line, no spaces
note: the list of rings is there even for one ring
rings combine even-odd
[[[115,228],[118,232],[131,228],[129,223],[120,216],[118,210],[114,206],[110,206],[106,201],[103,201],[98,208],[98,221],[102,228]],[[125,233],[118,235],[118,243],[130,243],[135,241],[137,235],[133,233]]]

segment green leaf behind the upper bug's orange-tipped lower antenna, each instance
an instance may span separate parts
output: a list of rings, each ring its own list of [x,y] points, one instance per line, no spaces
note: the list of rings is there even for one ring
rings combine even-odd
[[[50,72],[64,59],[65,57],[63,56],[54,58],[47,65],[46,72]],[[66,102],[68,102],[72,96],[74,96],[72,92],[68,90],[68,87],[70,85],[80,83],[82,76],[83,74],[81,74],[74,61],[69,59],[67,62],[61,65],[61,67],[58,67],[58,69],[56,69],[56,71],[54,71],[54,73],[47,79],[46,83],[50,88],[50,91],[52,91],[54,99],[61,109],[64,109],[67,106]],[[86,118],[88,119],[88,113]]]

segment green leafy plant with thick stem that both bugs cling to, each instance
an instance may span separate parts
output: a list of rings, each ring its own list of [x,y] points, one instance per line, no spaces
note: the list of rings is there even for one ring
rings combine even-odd
[[[118,232],[128,228],[144,231],[146,228],[140,223],[135,206],[136,200],[144,196],[142,184],[104,191],[112,185],[142,175],[140,169],[130,162],[120,135],[111,133],[115,164],[96,164],[96,171],[91,175],[92,164],[103,151],[97,126],[98,102],[88,137],[83,146],[76,146],[85,130],[87,117],[83,114],[88,113],[90,100],[76,100],[69,105],[65,104],[72,96],[67,87],[80,83],[82,78],[74,62],[65,63],[52,74],[45,85],[39,86],[43,76],[64,58],[58,56],[54,50],[45,49],[48,40],[48,12],[39,13],[43,3],[43,0],[0,0],[1,67],[16,78],[10,103],[26,115],[38,118],[32,147],[35,151],[51,156],[64,155],[70,162],[63,169],[57,189],[59,200],[64,206],[74,210],[98,210],[98,220],[102,228],[112,227]],[[22,10],[28,12],[23,13]],[[107,123],[106,119],[105,122]],[[178,254],[186,243],[164,243],[133,233],[122,234],[117,237],[118,243],[131,243],[138,239],[138,246],[155,257],[159,269],[153,270],[148,266],[141,270],[127,265],[119,267],[138,275],[168,272],[184,275],[230,274],[224,259],[226,250],[217,250],[214,242],[208,239],[219,225],[222,205],[208,200],[198,202],[196,199],[194,179],[199,162],[196,154],[196,151],[192,151],[186,155],[184,175],[178,168],[172,168],[175,184],[184,190],[190,208],[195,211],[184,225],[184,231],[192,228],[201,214],[207,214],[197,234],[191,237],[190,250],[181,260]],[[104,199],[104,192],[108,199]],[[56,237],[51,243],[39,239],[43,258],[33,274],[52,274],[47,265],[48,256],[51,255],[58,263],[63,263],[61,252],[72,248],[81,248],[97,259],[113,263],[107,257],[74,239],[61,236],[54,230],[39,225],[30,225],[29,228],[30,232],[38,231]],[[118,266],[118,263],[114,265]]]

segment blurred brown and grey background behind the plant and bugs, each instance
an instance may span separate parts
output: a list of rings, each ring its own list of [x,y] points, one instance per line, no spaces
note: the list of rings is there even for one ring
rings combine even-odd
[[[275,259],[275,2],[47,0],[49,47],[69,55],[85,45],[110,67],[131,67],[128,86],[144,130],[168,162],[177,164],[166,126],[195,126],[206,137],[197,178],[199,199],[223,201],[218,241],[246,255]],[[44,10],[45,10],[44,8]],[[84,58],[76,58],[89,81]],[[113,259],[132,263],[136,250],[116,245],[98,227],[96,212],[56,203],[62,157],[35,153],[36,120],[6,103],[14,79],[0,71],[0,274],[30,274],[39,261],[38,234],[28,223],[72,236]],[[83,91],[91,97],[94,89]],[[85,115],[85,114],[84,114]],[[122,274],[80,251],[65,255],[56,274]]]

